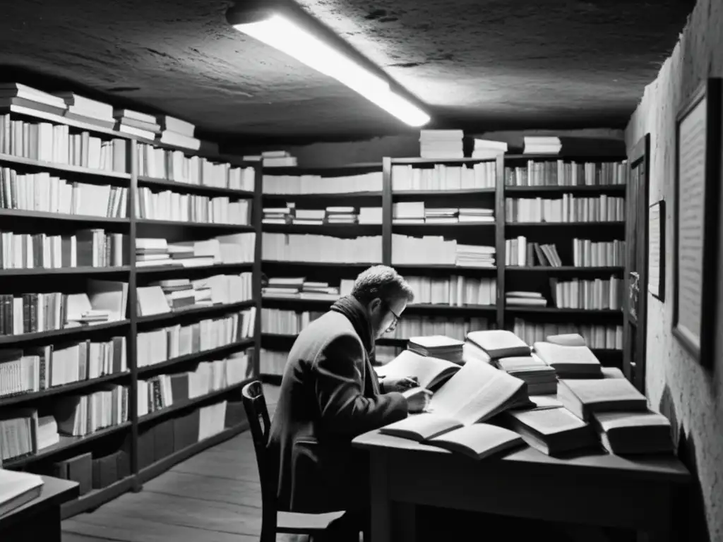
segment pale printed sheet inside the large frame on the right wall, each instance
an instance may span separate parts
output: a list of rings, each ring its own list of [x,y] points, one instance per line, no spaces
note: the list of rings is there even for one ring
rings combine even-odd
[[[678,133],[677,330],[695,348],[701,347],[706,103],[703,98],[690,111]]]

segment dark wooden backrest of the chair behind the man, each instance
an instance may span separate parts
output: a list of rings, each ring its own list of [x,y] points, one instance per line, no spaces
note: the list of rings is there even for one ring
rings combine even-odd
[[[264,512],[276,509],[276,475],[275,462],[271,460],[268,450],[269,431],[271,421],[266,407],[264,388],[259,380],[249,382],[241,390],[241,400],[249,420],[251,436],[254,439],[256,450],[256,463],[259,465],[259,478],[261,482],[261,499]]]

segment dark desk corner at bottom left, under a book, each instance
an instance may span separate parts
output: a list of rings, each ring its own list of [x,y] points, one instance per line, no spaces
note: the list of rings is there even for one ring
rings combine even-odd
[[[45,483],[37,499],[0,516],[2,542],[30,542],[33,539],[61,542],[60,506],[78,496],[78,484],[51,476],[40,478]]]

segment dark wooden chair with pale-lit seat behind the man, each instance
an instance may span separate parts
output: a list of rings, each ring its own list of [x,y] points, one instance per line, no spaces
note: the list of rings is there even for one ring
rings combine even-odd
[[[249,418],[251,435],[254,439],[256,462],[259,466],[261,481],[261,538],[260,542],[275,542],[276,533],[299,535],[319,535],[330,522],[341,517],[344,512],[328,514],[301,514],[299,512],[279,512],[276,507],[275,465],[270,460],[267,444],[271,426],[269,411],[266,407],[264,390],[260,381],[249,382],[241,390],[244,410]]]

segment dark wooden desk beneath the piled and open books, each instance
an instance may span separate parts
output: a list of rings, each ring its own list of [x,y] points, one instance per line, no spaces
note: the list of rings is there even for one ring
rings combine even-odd
[[[525,447],[475,461],[379,431],[354,446],[369,451],[372,542],[413,541],[416,505],[628,528],[664,541],[675,496],[690,481],[672,456],[557,459]]]

